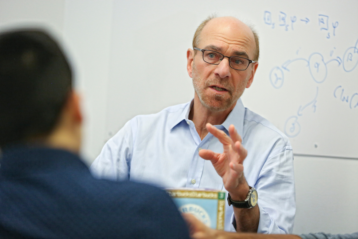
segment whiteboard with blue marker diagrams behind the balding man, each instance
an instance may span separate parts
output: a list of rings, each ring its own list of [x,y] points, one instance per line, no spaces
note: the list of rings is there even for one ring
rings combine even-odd
[[[209,14],[254,24],[259,66],[243,104],[294,153],[358,158],[358,1],[115,1],[106,138],[138,114],[190,101],[186,51]]]

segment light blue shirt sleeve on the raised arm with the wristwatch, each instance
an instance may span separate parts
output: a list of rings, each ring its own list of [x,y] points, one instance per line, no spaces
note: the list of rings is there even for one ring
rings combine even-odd
[[[258,180],[252,184],[258,193],[257,206],[260,210],[258,233],[292,233],[296,212],[295,197],[292,196],[295,195],[292,164],[292,150],[277,153],[267,159]],[[250,181],[248,180],[249,185]],[[235,232],[234,214],[231,217],[231,224],[231,231]]]

